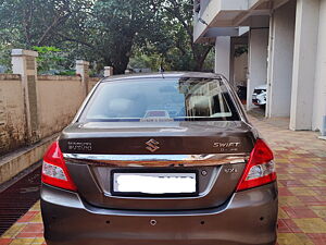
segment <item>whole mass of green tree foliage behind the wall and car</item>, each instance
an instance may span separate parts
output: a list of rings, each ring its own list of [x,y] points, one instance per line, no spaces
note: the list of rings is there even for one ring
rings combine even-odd
[[[34,47],[42,73],[70,71],[76,59],[115,73],[129,61],[200,71],[212,50],[192,42],[191,0],[2,0],[0,16],[0,47]]]

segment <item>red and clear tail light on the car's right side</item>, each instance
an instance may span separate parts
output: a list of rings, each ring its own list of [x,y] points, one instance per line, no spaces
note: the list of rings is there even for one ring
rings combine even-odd
[[[237,191],[256,187],[276,180],[274,156],[262,139],[258,139],[250,154]]]

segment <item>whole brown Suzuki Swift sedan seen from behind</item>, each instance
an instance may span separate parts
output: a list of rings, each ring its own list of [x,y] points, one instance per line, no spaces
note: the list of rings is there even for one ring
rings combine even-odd
[[[272,245],[273,152],[217,74],[103,78],[43,158],[48,245]]]

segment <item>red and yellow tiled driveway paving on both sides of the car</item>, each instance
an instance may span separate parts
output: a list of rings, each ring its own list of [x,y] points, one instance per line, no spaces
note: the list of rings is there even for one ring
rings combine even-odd
[[[287,119],[250,118],[276,156],[278,245],[325,245],[326,142],[314,132],[287,130]],[[1,236],[4,244],[43,244],[39,203]]]

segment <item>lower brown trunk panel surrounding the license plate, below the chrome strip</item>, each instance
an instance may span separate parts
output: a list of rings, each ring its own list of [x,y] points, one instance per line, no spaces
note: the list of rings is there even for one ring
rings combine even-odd
[[[221,167],[202,168],[168,168],[171,172],[197,171],[199,177],[199,195],[186,197],[155,197],[141,196],[139,198],[117,196],[111,192],[111,172],[118,170],[108,167],[89,167],[67,164],[70,172],[78,187],[79,195],[88,203],[105,208],[133,209],[133,210],[179,210],[179,209],[202,209],[216,207],[225,203],[234,193],[244,164],[224,164]],[[75,171],[76,169],[76,171]],[[141,172],[142,169],[124,169],[129,172]],[[151,172],[166,170],[166,168],[151,168]],[[233,171],[233,173],[227,171]],[[202,175],[202,172],[205,175]],[[83,180],[77,179],[83,174]],[[221,187],[223,186],[223,187]]]

